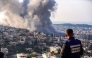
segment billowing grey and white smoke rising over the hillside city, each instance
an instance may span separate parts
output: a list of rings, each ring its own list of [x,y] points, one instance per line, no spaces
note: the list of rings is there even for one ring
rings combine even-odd
[[[0,24],[32,31],[55,33],[50,20],[55,0],[0,0]],[[1,20],[2,19],[2,20]]]

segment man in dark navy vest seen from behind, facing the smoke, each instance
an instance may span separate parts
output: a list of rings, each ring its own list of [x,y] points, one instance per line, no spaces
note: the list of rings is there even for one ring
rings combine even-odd
[[[62,46],[61,58],[80,58],[83,55],[81,41],[74,38],[72,29],[66,30],[66,38],[68,39]]]

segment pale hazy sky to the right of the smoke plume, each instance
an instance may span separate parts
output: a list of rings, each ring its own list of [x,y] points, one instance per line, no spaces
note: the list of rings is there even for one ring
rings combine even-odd
[[[92,24],[92,0],[56,0],[58,9],[53,23]]]

